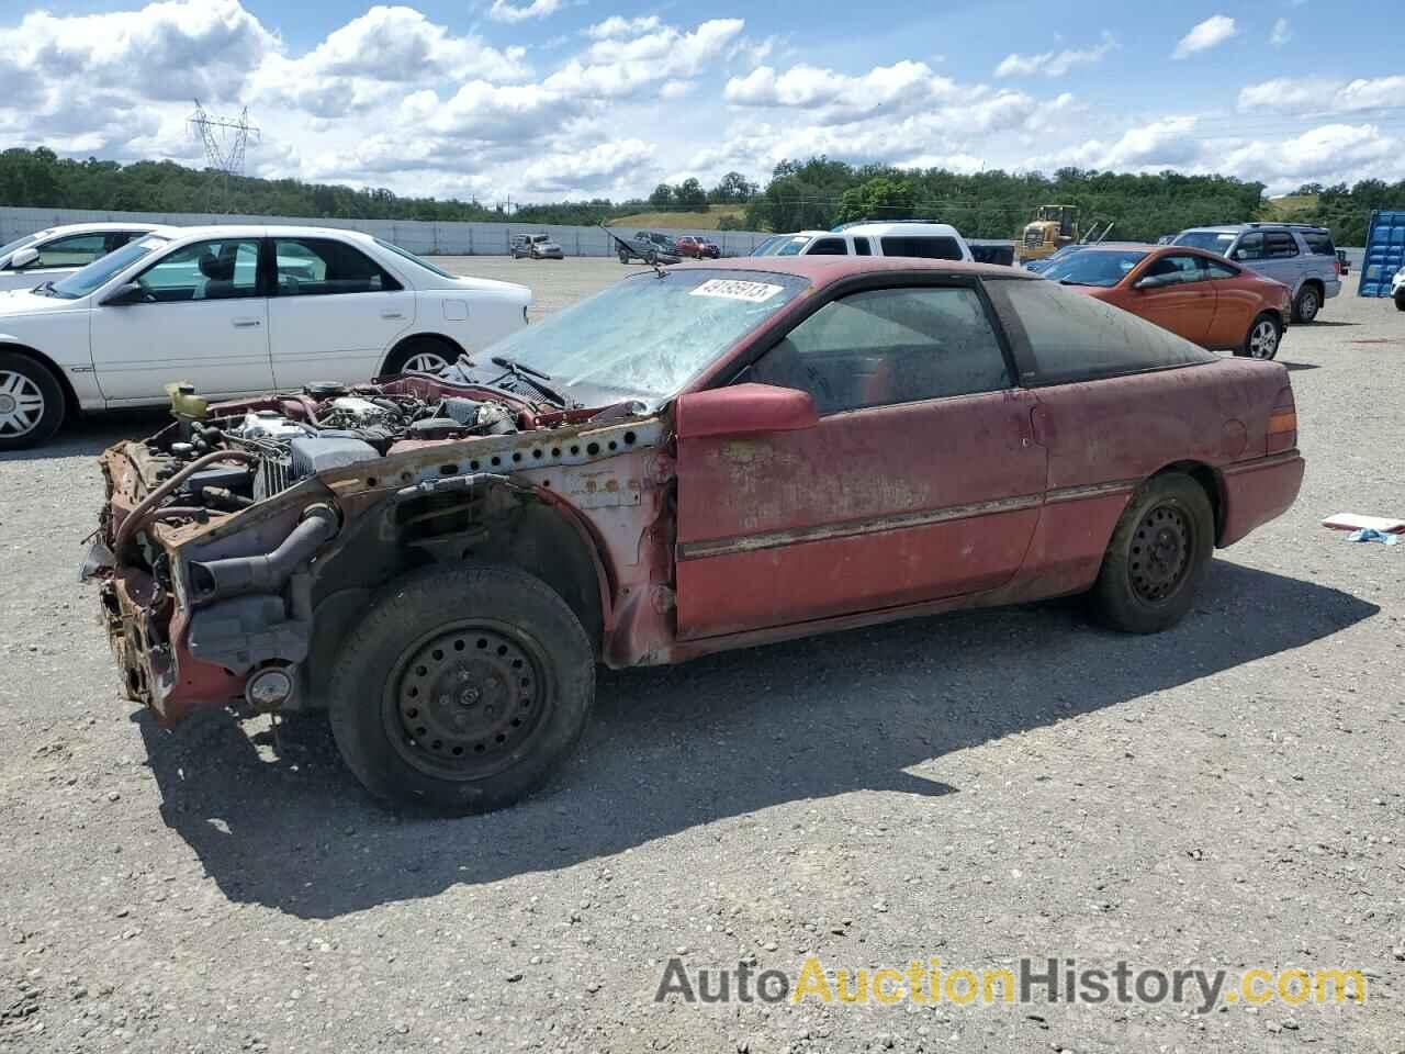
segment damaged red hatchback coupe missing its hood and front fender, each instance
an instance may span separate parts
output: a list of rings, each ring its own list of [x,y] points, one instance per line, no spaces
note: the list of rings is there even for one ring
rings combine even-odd
[[[1069,593],[1165,630],[1302,478],[1281,365],[944,260],[687,264],[443,375],[174,406],[84,568],[129,696],[326,708],[444,812],[541,784],[597,663]]]

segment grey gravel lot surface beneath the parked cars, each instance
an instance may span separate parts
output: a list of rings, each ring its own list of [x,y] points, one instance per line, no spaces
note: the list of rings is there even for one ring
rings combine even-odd
[[[552,309],[613,260],[450,261]],[[1353,282],[1354,285],[1354,275]],[[162,732],[74,572],[94,455],[0,455],[0,1047],[53,1051],[1405,1048],[1405,315],[1287,334],[1308,476],[1155,638],[1076,604],[604,673],[531,802],[400,821],[323,721]],[[665,963],[1354,967],[1366,1005],[655,1003]]]

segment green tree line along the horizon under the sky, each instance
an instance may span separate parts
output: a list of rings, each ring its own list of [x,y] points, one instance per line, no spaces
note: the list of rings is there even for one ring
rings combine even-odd
[[[635,212],[700,212],[726,205],[722,229],[826,229],[851,219],[936,219],[967,238],[1014,238],[1044,204],[1078,207],[1083,228],[1113,223],[1111,238],[1155,240],[1187,226],[1291,218],[1329,226],[1338,245],[1361,245],[1373,208],[1405,208],[1405,180],[1353,187],[1309,184],[1290,215],[1263,184],[1176,171],[1128,174],[1087,169],[958,174],[944,169],[854,166],[829,157],[785,160],[764,187],[728,173],[705,188],[697,178],[659,184],[646,200],[562,201],[509,207],[457,198],[399,197],[301,180],[233,177],[173,162],[118,164],[59,157],[48,148],[0,152],[0,205],[128,212],[229,212],[339,219],[599,223]]]

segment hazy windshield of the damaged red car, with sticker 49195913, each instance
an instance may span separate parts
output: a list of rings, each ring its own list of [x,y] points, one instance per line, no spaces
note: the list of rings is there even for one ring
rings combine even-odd
[[[641,275],[517,330],[475,361],[503,357],[558,386],[662,401],[806,287],[769,271]]]

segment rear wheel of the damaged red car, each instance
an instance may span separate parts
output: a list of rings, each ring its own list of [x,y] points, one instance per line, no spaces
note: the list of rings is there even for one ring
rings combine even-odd
[[[1152,476],[1123,510],[1089,594],[1103,625],[1131,634],[1169,630],[1184,618],[1210,569],[1215,519],[1187,475]]]

